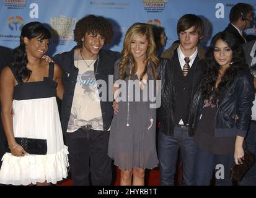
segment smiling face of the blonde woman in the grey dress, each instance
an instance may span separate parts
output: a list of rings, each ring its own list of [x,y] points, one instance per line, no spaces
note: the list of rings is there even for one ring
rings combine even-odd
[[[134,59],[146,59],[146,53],[148,50],[149,41],[146,38],[146,35],[135,37],[131,40],[130,50],[133,54]]]

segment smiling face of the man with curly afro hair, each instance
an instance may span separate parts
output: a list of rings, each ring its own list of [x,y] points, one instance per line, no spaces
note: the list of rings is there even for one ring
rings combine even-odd
[[[82,53],[86,59],[97,58],[100,49],[104,46],[105,38],[99,34],[86,33],[82,43]]]

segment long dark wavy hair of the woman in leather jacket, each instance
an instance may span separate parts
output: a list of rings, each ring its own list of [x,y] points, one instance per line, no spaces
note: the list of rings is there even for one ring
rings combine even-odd
[[[229,68],[226,69],[224,75],[221,77],[221,82],[218,84],[218,88],[215,89],[216,80],[219,75],[219,64],[215,61],[213,53],[217,40],[223,40],[227,43],[232,50],[232,61]],[[248,69],[245,64],[244,51],[236,39],[228,32],[219,32],[211,40],[211,45],[206,52],[207,69],[203,82],[201,85],[203,97],[206,100],[211,97],[218,97],[224,88],[232,84],[236,78],[237,71]],[[214,90],[214,92],[213,92]]]

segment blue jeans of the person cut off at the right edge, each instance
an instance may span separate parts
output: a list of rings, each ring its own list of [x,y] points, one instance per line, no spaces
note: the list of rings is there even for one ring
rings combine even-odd
[[[249,152],[254,153],[254,158],[256,160],[256,123],[255,122],[250,122],[250,128],[249,128],[249,131],[247,132],[247,137],[245,138],[245,142],[247,144],[247,150],[249,150]],[[256,186],[256,162],[245,174],[244,178],[239,183],[239,185]]]

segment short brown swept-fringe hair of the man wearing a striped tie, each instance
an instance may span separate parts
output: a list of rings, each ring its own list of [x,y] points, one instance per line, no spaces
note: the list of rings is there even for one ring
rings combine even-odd
[[[198,33],[199,38],[203,36],[204,24],[203,20],[195,14],[185,14],[183,15],[177,24],[177,33],[179,35],[180,32],[188,30],[189,28],[195,26],[195,32]]]

